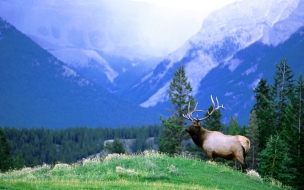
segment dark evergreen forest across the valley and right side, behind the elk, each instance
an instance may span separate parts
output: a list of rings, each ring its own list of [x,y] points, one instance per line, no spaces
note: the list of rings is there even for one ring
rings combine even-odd
[[[225,134],[247,136],[251,141],[251,148],[246,159],[249,168],[257,170],[264,178],[277,179],[284,184],[303,189],[303,76],[300,74],[296,78],[287,64],[287,59],[283,59],[276,65],[273,79],[273,83],[269,83],[261,78],[254,89],[256,101],[251,110],[248,126],[240,126],[234,116],[230,118],[228,124],[224,125],[221,122],[220,110],[204,120],[202,126]],[[177,86],[177,89],[180,88]],[[184,102],[185,105],[181,107],[187,110],[187,101]],[[119,139],[134,139],[135,143],[131,151],[143,151],[152,148],[151,144],[146,143],[149,137],[154,137],[153,143],[159,145],[160,151],[183,153],[186,150],[191,153],[197,149],[193,146],[187,149],[182,147],[182,141],[189,139],[189,136],[180,135],[186,126],[186,122],[178,119],[181,113],[173,114],[168,120],[162,119],[162,125],[142,127],[77,127],[60,130],[0,127],[0,132],[3,131],[0,133],[2,134],[0,136],[1,157],[5,154],[11,155],[11,168],[42,163],[71,163],[102,152],[106,148],[104,141],[109,139],[115,139],[113,144],[116,143],[116,145],[121,145],[118,142]],[[179,123],[180,126],[175,123]],[[8,148],[3,148],[5,147],[3,145]],[[113,146],[108,147],[108,150],[115,152]],[[203,158],[206,157],[203,155]],[[4,162],[0,163],[0,167],[7,165]],[[1,171],[5,170],[1,168]]]

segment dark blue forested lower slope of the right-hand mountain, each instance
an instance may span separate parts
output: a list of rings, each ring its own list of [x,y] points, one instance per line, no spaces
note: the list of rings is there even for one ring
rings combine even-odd
[[[303,50],[304,27],[277,46],[258,41],[238,51],[229,61],[220,63],[200,81],[200,88],[195,96],[199,109],[207,109],[211,105],[210,95],[217,96],[225,107],[221,110],[225,123],[228,123],[231,116],[236,116],[241,125],[247,124],[250,110],[255,103],[253,89],[259,80],[265,78],[269,84],[273,84],[275,64],[284,58],[287,58],[296,80],[300,73],[304,73]],[[165,89],[160,88],[159,91],[162,90]],[[163,101],[152,109],[161,111],[169,107],[169,102]]]

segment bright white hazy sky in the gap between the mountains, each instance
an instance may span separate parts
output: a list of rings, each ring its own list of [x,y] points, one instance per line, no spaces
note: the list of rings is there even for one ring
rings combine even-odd
[[[140,32],[155,54],[166,55],[196,34],[214,10],[236,0],[133,0],[151,6]],[[157,27],[161,26],[161,27]],[[154,30],[153,30],[154,28]]]

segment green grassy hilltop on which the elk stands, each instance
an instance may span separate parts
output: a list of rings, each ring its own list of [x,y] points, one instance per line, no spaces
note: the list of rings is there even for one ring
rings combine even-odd
[[[0,189],[280,189],[220,164],[154,151],[0,174]]]

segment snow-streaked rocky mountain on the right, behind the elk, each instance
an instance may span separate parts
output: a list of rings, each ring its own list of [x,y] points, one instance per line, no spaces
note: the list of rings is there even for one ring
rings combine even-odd
[[[201,30],[161,61],[124,98],[142,107],[165,110],[173,73],[184,65],[202,109],[218,96],[224,121],[236,116],[246,124],[259,80],[271,80],[275,64],[288,58],[296,74],[304,71],[303,0],[237,1],[212,13]],[[132,94],[132,96],[131,96]]]

